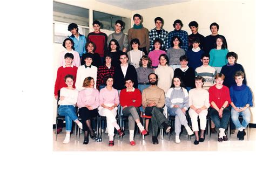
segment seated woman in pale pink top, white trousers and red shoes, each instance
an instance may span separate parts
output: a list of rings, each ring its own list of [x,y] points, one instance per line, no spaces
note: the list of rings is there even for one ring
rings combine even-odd
[[[109,146],[114,146],[114,128],[117,129],[118,134],[122,136],[124,131],[120,129],[117,124],[117,106],[119,105],[119,96],[117,89],[113,86],[113,77],[107,76],[105,78],[106,87],[100,89],[99,92],[99,115],[106,116],[107,128],[109,130]]]

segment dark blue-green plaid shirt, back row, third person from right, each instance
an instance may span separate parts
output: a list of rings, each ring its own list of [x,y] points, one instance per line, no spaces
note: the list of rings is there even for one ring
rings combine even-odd
[[[183,45],[179,46],[179,47],[184,49],[185,52],[187,52],[187,50],[188,50],[188,34],[187,34],[187,32],[183,31],[183,30],[180,30],[180,31],[174,30],[174,31],[169,32],[168,38],[167,38],[168,39],[168,44],[167,44],[168,48],[171,47],[171,44],[172,44],[171,39],[173,36],[178,36],[182,40]]]

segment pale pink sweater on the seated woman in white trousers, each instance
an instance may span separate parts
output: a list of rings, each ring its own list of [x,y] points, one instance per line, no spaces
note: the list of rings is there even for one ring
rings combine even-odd
[[[99,105],[102,104],[117,104],[119,105],[119,95],[117,89],[112,88],[111,91],[107,90],[106,87],[99,91]]]

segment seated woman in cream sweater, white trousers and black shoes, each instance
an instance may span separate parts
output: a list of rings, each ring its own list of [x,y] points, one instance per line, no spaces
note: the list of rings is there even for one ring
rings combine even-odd
[[[206,89],[203,89],[205,79],[201,76],[195,78],[196,88],[191,89],[188,92],[188,105],[190,106],[190,110],[188,110],[188,114],[190,115],[192,122],[192,129],[194,134],[196,135],[196,140],[194,140],[194,144],[197,145],[199,142],[204,142],[204,132],[206,127],[206,116],[208,114],[208,108],[210,107],[209,102],[209,93]],[[197,118],[199,116],[200,121],[200,129],[201,134],[199,138],[199,128]]]

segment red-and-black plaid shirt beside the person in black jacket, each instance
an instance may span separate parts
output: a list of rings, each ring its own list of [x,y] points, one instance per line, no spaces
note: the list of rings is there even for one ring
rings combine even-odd
[[[113,77],[114,75],[114,66],[111,65],[110,68],[108,68],[106,65],[99,66],[98,72],[97,72],[97,82],[96,82],[96,88],[99,90],[99,85],[105,84],[104,78],[107,75],[111,75]]]

